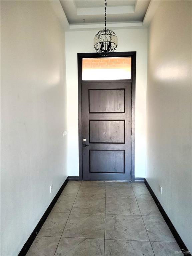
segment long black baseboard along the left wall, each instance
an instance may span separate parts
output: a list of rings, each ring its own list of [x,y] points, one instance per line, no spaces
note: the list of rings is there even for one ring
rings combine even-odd
[[[35,240],[35,237],[37,236],[39,230],[41,229],[41,227],[43,226],[44,222],[46,221],[49,213],[51,212],[53,206],[55,205],[55,203],[57,202],[59,196],[61,195],[63,189],[65,188],[67,182],[68,182],[68,177],[67,179],[64,181],[63,185],[61,186],[61,188],[59,189],[59,191],[57,192],[56,196],[53,198],[52,202],[50,203],[50,205],[48,206],[47,210],[45,211],[45,213],[43,214],[42,218],[40,219],[40,221],[38,222],[37,226],[35,227],[35,229],[33,230],[33,232],[31,233],[30,237],[27,239],[27,242],[24,244],[23,248],[21,249],[21,251],[19,252],[18,256],[25,256],[26,253],[28,252],[30,246],[32,245],[33,241]]]

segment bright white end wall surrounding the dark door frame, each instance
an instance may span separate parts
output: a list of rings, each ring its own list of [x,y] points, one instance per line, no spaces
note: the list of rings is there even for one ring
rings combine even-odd
[[[66,76],[68,111],[68,175],[79,176],[77,53],[95,52],[98,31],[66,32]],[[136,51],[135,177],[145,177],[147,29],[114,30],[118,52]]]

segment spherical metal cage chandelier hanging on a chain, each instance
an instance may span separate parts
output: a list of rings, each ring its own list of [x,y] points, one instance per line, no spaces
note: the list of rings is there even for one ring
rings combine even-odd
[[[117,48],[117,36],[112,30],[106,29],[106,7],[105,0],[105,29],[100,30],[94,38],[94,48],[102,56],[107,56]]]

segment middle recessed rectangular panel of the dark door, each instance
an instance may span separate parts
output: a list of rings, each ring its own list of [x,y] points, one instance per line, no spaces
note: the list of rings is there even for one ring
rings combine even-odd
[[[89,143],[125,143],[125,120],[89,120]]]

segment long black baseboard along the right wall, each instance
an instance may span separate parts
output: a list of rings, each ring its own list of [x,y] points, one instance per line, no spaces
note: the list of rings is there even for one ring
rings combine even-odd
[[[153,190],[151,189],[151,187],[149,186],[149,183],[147,182],[147,180],[145,179],[145,185],[148,188],[151,196],[153,197],[153,200],[155,201],[157,207],[159,208],[160,213],[162,214],[165,222],[167,223],[169,229],[171,230],[171,233],[173,234],[176,242],[178,243],[179,247],[182,251],[184,255],[186,256],[191,256],[191,254],[189,253],[189,250],[187,249],[187,247],[185,246],[183,240],[181,239],[180,235],[178,234],[177,230],[175,229],[175,227],[173,226],[173,223],[171,222],[171,220],[169,219],[169,217],[167,216],[166,212],[164,211],[163,207],[161,206],[159,200],[157,199],[155,193],[153,192]]]

